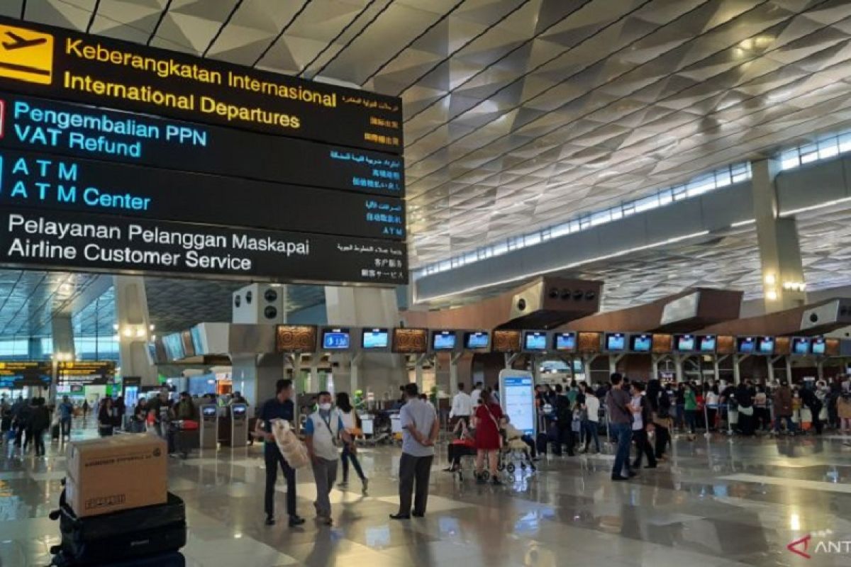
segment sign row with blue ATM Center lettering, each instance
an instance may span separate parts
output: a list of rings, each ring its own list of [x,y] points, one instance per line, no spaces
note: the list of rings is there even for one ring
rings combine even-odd
[[[0,205],[392,240],[405,236],[401,199],[2,149]]]

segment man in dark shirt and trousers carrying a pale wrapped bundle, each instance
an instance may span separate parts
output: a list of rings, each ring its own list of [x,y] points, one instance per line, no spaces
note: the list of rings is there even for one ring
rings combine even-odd
[[[305,523],[304,518],[295,513],[295,469],[289,463],[281,450],[277,448],[275,437],[271,433],[271,420],[283,419],[292,424],[295,417],[293,400],[293,381],[278,380],[275,383],[275,397],[266,400],[260,409],[260,420],[266,432],[266,443],[263,446],[263,454],[266,457],[266,525],[275,524],[275,482],[277,481],[277,467],[281,465],[283,478],[287,479],[287,514],[289,516],[289,527]]]

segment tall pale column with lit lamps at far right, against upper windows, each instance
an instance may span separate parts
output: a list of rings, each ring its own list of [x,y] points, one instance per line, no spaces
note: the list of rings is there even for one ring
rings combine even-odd
[[[773,313],[807,303],[801,247],[795,218],[780,218],[774,179],[780,162],[764,159],[751,162],[754,218],[762,264],[765,312]]]

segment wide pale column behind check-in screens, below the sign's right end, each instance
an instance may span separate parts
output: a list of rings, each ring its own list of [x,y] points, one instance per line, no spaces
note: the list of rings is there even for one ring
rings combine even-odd
[[[329,325],[387,328],[399,325],[399,307],[396,292],[392,289],[325,286],[325,309]],[[352,340],[360,341],[361,337],[353,337]],[[338,356],[340,369],[334,372],[337,391],[355,386],[363,389],[364,393],[372,392],[376,399],[381,399],[384,394],[389,394],[392,399],[397,397],[399,385],[408,382],[401,355],[364,353],[354,362],[357,365],[354,380],[344,370],[351,363],[351,358],[337,354],[334,358]]]

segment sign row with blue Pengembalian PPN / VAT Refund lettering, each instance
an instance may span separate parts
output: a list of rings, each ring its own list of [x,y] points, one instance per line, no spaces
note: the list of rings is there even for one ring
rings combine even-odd
[[[0,147],[404,196],[401,156],[0,94]]]

